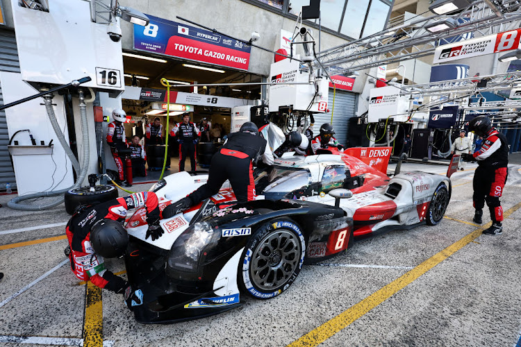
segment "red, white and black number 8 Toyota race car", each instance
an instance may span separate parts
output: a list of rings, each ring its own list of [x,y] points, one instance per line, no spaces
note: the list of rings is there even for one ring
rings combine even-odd
[[[146,216],[138,210],[126,221],[125,256],[129,282],[143,294],[135,319],[183,321],[230,310],[243,295],[272,298],[290,287],[304,261],[345,251],[354,236],[439,223],[449,176],[413,171],[389,178],[389,158],[390,148],[380,147],[276,159],[256,172],[256,201],[234,204],[233,191],[223,187],[183,214],[164,215],[165,234],[155,241],[145,239]],[[163,211],[207,179],[180,172],[151,190]]]

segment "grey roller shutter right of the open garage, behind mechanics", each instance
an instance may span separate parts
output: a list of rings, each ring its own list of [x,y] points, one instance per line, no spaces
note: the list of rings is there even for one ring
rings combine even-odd
[[[333,89],[329,89],[329,109],[333,105]],[[333,128],[335,128],[335,137],[340,144],[345,144],[347,140],[347,127],[349,126],[349,118],[354,117],[356,110],[356,94],[336,91],[335,108],[333,110]],[[324,123],[331,123],[331,112],[320,113],[314,115],[315,126],[313,126],[313,135],[320,133],[320,126]]]

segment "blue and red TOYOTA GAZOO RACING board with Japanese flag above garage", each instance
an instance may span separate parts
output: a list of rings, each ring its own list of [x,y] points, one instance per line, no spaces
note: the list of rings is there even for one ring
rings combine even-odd
[[[251,46],[204,29],[147,15],[147,26],[134,24],[134,48],[176,58],[247,70]]]

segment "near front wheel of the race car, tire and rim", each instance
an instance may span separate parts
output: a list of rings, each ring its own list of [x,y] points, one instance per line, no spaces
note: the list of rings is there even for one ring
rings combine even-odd
[[[249,296],[273,298],[299,275],[306,253],[301,228],[291,219],[277,219],[258,228],[239,265],[238,284]]]

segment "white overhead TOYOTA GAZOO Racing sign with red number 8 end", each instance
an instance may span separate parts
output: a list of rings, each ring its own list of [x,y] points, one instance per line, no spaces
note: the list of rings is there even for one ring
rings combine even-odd
[[[456,42],[454,44],[445,44],[436,48],[434,63],[449,62],[452,60],[518,49],[520,37],[521,29],[515,29],[477,37],[472,40]]]

